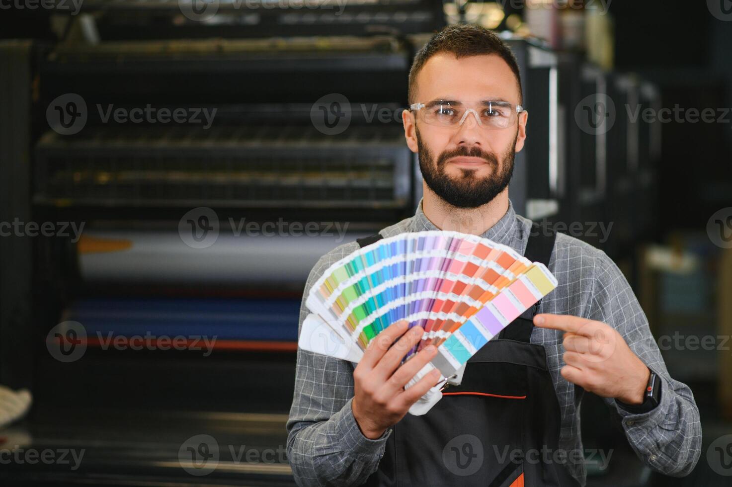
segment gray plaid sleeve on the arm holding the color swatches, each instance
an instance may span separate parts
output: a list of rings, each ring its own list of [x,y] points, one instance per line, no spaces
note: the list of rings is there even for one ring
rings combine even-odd
[[[299,330],[309,313],[307,294],[328,267],[321,258],[307,278]],[[298,332],[299,335],[299,332]],[[297,485],[358,486],[378,468],[389,428],[378,439],[364,436],[354,418],[354,365],[297,350],[295,391],[287,421],[287,453]]]

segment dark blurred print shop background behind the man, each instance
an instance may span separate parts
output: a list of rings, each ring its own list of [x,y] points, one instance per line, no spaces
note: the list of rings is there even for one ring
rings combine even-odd
[[[305,279],[414,214],[400,112],[449,23],[518,57],[517,212],[616,261],[701,409],[671,479],[586,396],[588,485],[730,485],[729,1],[0,0],[1,485],[294,485]]]

